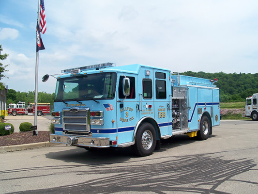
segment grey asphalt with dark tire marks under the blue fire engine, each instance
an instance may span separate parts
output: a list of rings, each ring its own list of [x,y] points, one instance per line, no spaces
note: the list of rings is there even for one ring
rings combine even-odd
[[[147,157],[65,145],[0,153],[0,194],[257,194],[257,128],[222,120],[207,140],[176,135]]]

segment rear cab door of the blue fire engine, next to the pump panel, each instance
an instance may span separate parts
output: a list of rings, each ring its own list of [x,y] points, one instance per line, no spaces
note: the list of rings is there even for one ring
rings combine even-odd
[[[163,70],[153,70],[154,76],[154,117],[160,127],[161,136],[172,135],[172,122],[170,121],[171,100],[168,87],[169,73]],[[171,91],[170,91],[171,92]],[[171,130],[170,130],[171,128]],[[171,132],[169,132],[171,131]]]

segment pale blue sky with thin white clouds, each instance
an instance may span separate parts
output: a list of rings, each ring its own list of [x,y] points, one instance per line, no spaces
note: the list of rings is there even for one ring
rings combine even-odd
[[[111,62],[172,72],[258,72],[258,0],[44,0],[38,92],[62,69]],[[0,0],[1,81],[35,90],[38,0]]]

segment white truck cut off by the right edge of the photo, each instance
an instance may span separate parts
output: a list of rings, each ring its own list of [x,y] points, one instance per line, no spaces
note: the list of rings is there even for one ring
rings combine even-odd
[[[247,97],[245,102],[245,114],[243,116],[251,117],[253,121],[258,121],[257,99],[258,94],[253,94],[253,96]]]

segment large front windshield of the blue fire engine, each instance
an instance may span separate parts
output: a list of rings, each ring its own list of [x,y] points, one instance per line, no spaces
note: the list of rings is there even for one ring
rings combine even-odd
[[[55,101],[113,99],[116,73],[97,73],[57,80]]]

